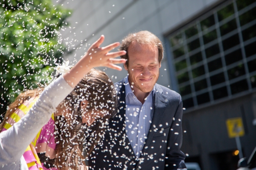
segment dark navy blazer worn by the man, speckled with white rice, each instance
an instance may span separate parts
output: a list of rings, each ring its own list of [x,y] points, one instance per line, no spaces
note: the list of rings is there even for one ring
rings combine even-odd
[[[185,168],[182,145],[182,100],[175,91],[155,85],[155,109],[140,159],[136,159],[125,132],[124,79],[115,83],[119,106],[109,121],[102,143],[89,156],[91,170],[176,170]],[[181,162],[182,161],[182,162]]]

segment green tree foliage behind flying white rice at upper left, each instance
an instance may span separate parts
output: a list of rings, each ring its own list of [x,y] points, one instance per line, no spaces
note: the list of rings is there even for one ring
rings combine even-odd
[[[0,1],[0,114],[20,91],[50,80],[65,51],[58,30],[70,14],[51,0]]]

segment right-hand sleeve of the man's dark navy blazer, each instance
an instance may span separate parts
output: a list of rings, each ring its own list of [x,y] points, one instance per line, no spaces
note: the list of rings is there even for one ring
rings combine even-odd
[[[185,164],[180,167],[179,164],[185,159],[185,154],[182,153],[180,147],[182,145],[182,100],[181,96],[179,105],[176,110],[173,121],[171,123],[170,132],[168,133],[168,141],[165,155],[165,170],[177,170],[186,168]]]

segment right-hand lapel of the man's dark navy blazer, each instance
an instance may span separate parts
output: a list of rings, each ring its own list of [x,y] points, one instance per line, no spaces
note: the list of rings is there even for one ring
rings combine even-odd
[[[150,125],[150,130],[147,134],[147,140],[146,144],[144,144],[144,148],[142,150],[142,153],[144,153],[145,146],[148,146],[150,144],[155,131],[159,129],[159,125],[161,124],[161,120],[163,118],[163,113],[165,112],[165,108],[167,105],[167,96],[163,95],[163,90],[162,88],[159,87],[159,85],[155,85],[156,92],[155,92],[155,109],[153,112],[153,118],[152,118],[152,123]],[[141,154],[142,155],[142,154]]]

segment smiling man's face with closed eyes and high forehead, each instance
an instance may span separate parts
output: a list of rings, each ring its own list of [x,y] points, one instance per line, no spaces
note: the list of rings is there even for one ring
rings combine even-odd
[[[157,47],[133,42],[128,48],[128,55],[129,64],[128,67],[124,65],[124,68],[129,73],[129,83],[133,86],[133,90],[138,89],[145,93],[152,91],[161,67]]]

